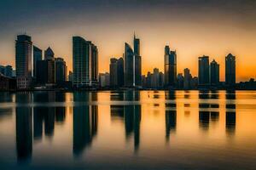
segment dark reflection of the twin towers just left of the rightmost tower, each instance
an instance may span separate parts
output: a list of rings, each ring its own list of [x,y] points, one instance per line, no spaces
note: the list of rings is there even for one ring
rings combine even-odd
[[[218,122],[219,104],[218,91],[199,92],[199,126],[202,130],[208,130],[211,123]]]

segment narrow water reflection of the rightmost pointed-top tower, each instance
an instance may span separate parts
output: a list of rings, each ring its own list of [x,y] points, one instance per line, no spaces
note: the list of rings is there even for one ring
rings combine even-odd
[[[236,91],[226,91],[226,133],[236,133]]]

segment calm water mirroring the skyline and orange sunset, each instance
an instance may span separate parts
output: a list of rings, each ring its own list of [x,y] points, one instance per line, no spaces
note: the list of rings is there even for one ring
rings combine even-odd
[[[256,91],[1,93],[0,168],[256,169]]]

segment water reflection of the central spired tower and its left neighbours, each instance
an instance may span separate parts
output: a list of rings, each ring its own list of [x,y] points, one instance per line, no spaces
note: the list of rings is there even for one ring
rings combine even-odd
[[[125,91],[118,94],[111,94],[110,99],[125,100],[126,102],[134,102],[140,100],[139,91]],[[122,119],[125,122],[126,140],[134,137],[134,150],[137,152],[140,144],[140,123],[141,123],[141,105],[110,105],[111,119]],[[118,118],[119,117],[119,118]]]

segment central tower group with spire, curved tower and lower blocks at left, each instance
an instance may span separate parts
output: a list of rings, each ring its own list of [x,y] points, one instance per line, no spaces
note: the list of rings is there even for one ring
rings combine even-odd
[[[142,87],[142,56],[140,54],[140,39],[134,35],[133,49],[125,42],[123,58],[111,58],[109,72],[99,75],[100,86],[112,88]]]

